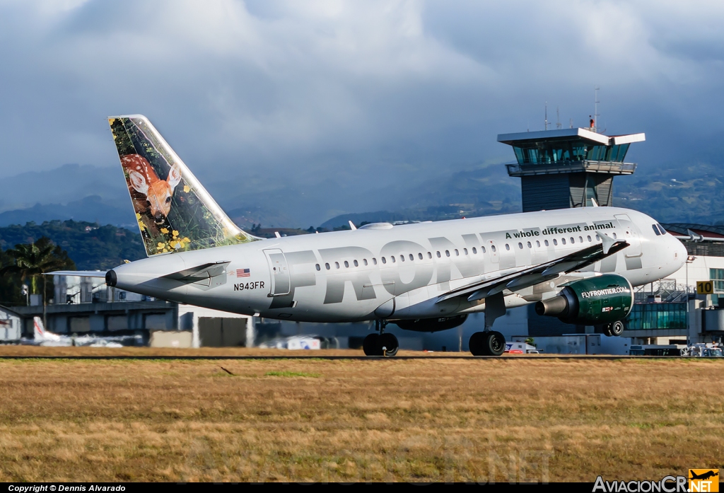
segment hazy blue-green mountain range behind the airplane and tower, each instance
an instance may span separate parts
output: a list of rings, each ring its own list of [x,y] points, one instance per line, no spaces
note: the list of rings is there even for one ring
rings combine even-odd
[[[403,182],[380,179],[376,187],[346,190],[343,198],[333,183],[295,185],[281,180],[274,185],[271,180],[240,189],[230,185],[233,181],[212,181],[207,188],[244,229],[254,224],[333,229],[349,220],[422,221],[521,210],[520,182],[508,177],[500,162],[457,172],[440,169]],[[723,184],[724,167],[710,162],[640,165],[633,176],[615,178],[614,205],[643,211],[660,222],[715,224],[724,220]],[[0,227],[72,219],[135,228],[127,189],[115,167],[66,164],[7,177],[3,185]]]

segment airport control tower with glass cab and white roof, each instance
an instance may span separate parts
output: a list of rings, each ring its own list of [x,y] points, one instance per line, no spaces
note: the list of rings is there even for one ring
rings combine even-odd
[[[523,212],[542,209],[610,206],[613,177],[633,174],[628,146],[646,140],[643,133],[607,137],[594,128],[506,133],[498,142],[513,146],[511,177],[521,178]]]

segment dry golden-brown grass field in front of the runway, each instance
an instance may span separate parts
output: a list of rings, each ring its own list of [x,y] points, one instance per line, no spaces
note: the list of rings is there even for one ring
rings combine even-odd
[[[0,481],[660,479],[724,468],[723,382],[663,359],[0,359]]]

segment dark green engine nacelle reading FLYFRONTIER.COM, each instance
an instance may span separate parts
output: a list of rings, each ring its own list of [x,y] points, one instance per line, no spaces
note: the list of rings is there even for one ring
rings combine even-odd
[[[539,315],[557,316],[566,324],[610,324],[631,313],[633,287],[625,277],[604,274],[573,282],[535,308]]]

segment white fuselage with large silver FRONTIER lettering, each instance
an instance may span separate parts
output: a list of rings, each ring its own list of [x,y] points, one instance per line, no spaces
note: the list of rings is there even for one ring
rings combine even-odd
[[[654,224],[645,214],[614,207],[394,227],[383,223],[169,253],[114,272],[117,287],[124,290],[270,319],[424,319],[484,311],[485,300],[436,301],[452,289],[600,243],[597,234],[626,240],[629,246],[583,271],[505,290],[506,306],[550,298],[563,283],[596,273],[619,274],[634,286],[662,279],[683,265],[686,249],[671,235],[657,235]],[[214,262],[225,269],[204,282],[163,277]]]

